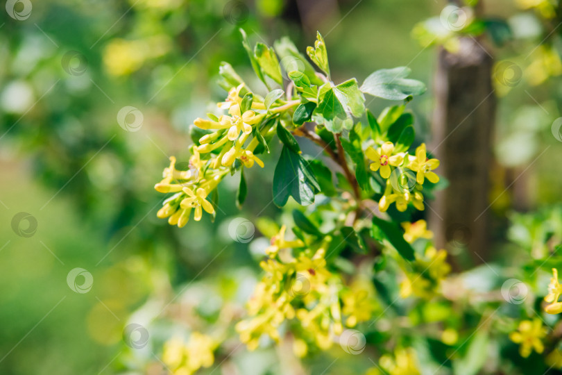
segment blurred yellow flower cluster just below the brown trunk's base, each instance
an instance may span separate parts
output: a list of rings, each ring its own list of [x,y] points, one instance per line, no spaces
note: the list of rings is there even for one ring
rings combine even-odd
[[[425,256],[411,263],[413,270],[405,270],[406,277],[400,283],[400,297],[407,298],[411,294],[423,299],[434,297],[441,281],[451,270],[446,258],[447,251],[427,247]]]

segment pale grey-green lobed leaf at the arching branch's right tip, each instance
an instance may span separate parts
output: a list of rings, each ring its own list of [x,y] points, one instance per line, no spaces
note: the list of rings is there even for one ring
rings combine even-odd
[[[404,100],[423,94],[427,89],[422,82],[406,78],[410,72],[409,67],[377,70],[365,79],[361,91],[389,100]]]

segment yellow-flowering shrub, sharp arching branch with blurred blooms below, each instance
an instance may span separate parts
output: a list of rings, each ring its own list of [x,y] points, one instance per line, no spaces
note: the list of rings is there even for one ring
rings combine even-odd
[[[439,181],[434,172],[439,161],[425,144],[413,147],[414,117],[406,110],[425,85],[406,78],[406,67],[374,72],[361,86],[356,78],[336,84],[320,33],[307,55],[321,72],[287,38],[273,48],[257,43],[250,49],[242,35],[267,92],[259,94],[228,63],[221,65],[219,83],[228,91],[217,103],[223,112],[194,120],[189,167],[176,169],[171,157],[155,185],[158,192],[172,194],[157,216],[179,227],[191,213],[196,221],[203,211],[214,218],[216,187],[233,174],[240,176],[237,204],[242,205],[248,194],[244,169],[264,168],[262,155],[273,154],[270,149],[280,142],[272,201],[283,207],[292,197],[309,207],[293,210],[290,230],[283,225],[272,233],[259,264],[264,276],[248,301],[247,317],[235,328],[250,350],[264,338],[290,339],[302,357],[329,349],[348,337],[350,328],[382,312],[373,265],[382,271],[386,260],[393,260],[402,273],[402,298],[432,299],[450,271],[447,254],[432,246],[425,221],[411,222],[424,210],[424,192]],[[365,94],[403,103],[375,117],[366,110]],[[363,115],[366,124],[358,121]],[[321,150],[305,156],[298,138]],[[168,344],[166,353],[179,344]],[[398,374],[415,367],[416,355],[409,348],[396,349],[381,361]]]

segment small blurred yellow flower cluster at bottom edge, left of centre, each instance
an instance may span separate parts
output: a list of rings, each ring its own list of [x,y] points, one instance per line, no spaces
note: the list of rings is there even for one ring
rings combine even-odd
[[[210,336],[193,332],[185,343],[180,338],[172,338],[164,344],[162,362],[173,375],[191,375],[201,367],[211,367],[214,363],[214,350],[218,343]]]

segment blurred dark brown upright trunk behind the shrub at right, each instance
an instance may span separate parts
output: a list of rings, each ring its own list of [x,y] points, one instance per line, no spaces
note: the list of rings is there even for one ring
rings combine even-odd
[[[495,94],[493,58],[481,40],[462,38],[460,49],[439,51],[435,77],[434,139],[429,150],[441,160],[450,185],[436,194],[429,220],[436,245],[475,263],[489,255],[488,194]],[[455,251],[457,250],[457,251]],[[468,253],[468,254],[467,254]],[[464,268],[464,267],[463,267]]]

